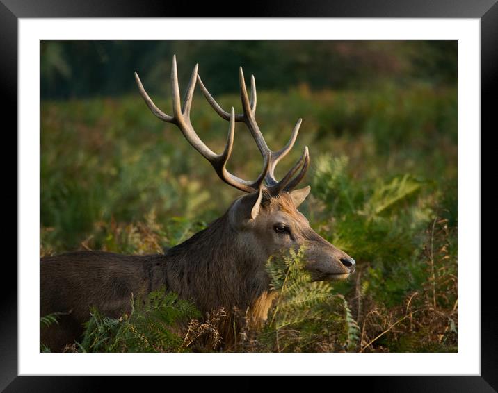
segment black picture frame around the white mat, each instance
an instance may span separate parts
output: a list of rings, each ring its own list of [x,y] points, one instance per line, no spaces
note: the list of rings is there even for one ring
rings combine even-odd
[[[247,9],[246,9],[247,8]],[[239,11],[239,9],[241,11]],[[243,9],[243,11],[242,11]],[[17,130],[17,25],[19,18],[43,17],[220,17],[219,10],[227,10],[225,17],[383,17],[383,18],[476,18],[481,20],[481,129],[491,128],[496,112],[493,92],[498,80],[498,3],[497,0],[347,0],[266,1],[252,9],[239,8],[233,2],[191,4],[167,1],[120,1],[120,0],[0,0],[1,61],[0,80],[3,113],[3,137],[14,137]],[[15,115],[16,114],[16,115]],[[8,122],[10,121],[10,122]],[[495,124],[493,124],[495,126]],[[496,128],[496,126],[495,126]],[[488,130],[489,135],[492,130]],[[481,137],[483,132],[481,131]],[[5,142],[6,144],[6,142]],[[17,146],[17,138],[15,139]],[[7,145],[7,144],[6,144]],[[10,146],[10,144],[9,144]],[[482,144],[484,147],[485,145]],[[490,144],[488,143],[488,146]],[[482,161],[481,167],[485,168]],[[5,160],[5,159],[4,159]],[[8,158],[12,165],[12,158]],[[492,167],[491,167],[492,168]],[[481,179],[482,179],[481,175]],[[492,182],[490,182],[492,183]],[[485,192],[486,187],[488,191]],[[492,198],[491,184],[482,184],[481,203]],[[17,190],[17,189],[16,189]],[[12,192],[5,194],[14,194]],[[17,192],[15,193],[17,204]],[[14,198],[14,196],[12,196]],[[495,202],[496,203],[496,202]],[[18,206],[18,205],[17,205]],[[490,203],[488,203],[488,206]],[[19,206],[18,206],[19,209]],[[481,206],[482,209],[482,206]],[[12,208],[7,209],[12,210]],[[494,214],[492,214],[494,213]],[[486,215],[488,221],[496,218],[497,209]],[[17,228],[17,226],[16,226]],[[11,230],[11,228],[10,228]],[[481,244],[492,244],[494,231],[481,231]],[[16,231],[17,233],[17,231]],[[17,233],[22,236],[22,233]],[[488,240],[486,242],[485,240]],[[12,246],[8,245],[10,248]],[[5,255],[5,254],[4,254]],[[355,390],[364,387],[381,392],[497,392],[498,391],[498,328],[495,307],[495,261],[481,258],[481,375],[480,376],[368,376],[335,378],[329,388],[338,388],[337,382],[345,382]],[[465,262],[465,261],[460,261]],[[0,387],[5,392],[93,392],[104,389],[103,383],[111,383],[113,390],[130,387],[131,378],[113,377],[48,377],[17,376],[17,265],[13,258],[3,258],[2,276],[9,277],[12,285],[3,286],[0,318]],[[6,280],[4,280],[6,281]],[[352,365],[354,367],[354,365]],[[389,374],[389,370],[385,371]],[[177,385],[188,377],[175,377]],[[237,383],[239,387],[260,388],[254,379]],[[255,379],[258,377],[255,377]],[[161,378],[162,379],[162,378]],[[205,382],[188,381],[188,390],[202,387]],[[140,379],[143,381],[143,379]],[[157,381],[157,380],[156,380]],[[161,383],[161,382],[160,382]],[[168,386],[172,382],[168,382]],[[326,382],[332,383],[332,382]],[[166,386],[166,385],[165,385]],[[212,385],[211,383],[211,386]],[[218,388],[219,386],[217,386]],[[228,383],[227,387],[233,387]],[[223,387],[222,387],[223,388]]]

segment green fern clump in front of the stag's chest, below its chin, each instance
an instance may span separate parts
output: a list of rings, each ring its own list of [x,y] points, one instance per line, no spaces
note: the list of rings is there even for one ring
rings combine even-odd
[[[359,328],[346,300],[332,294],[330,283],[310,282],[304,266],[303,247],[289,256],[268,260],[271,287],[279,291],[279,296],[259,340],[276,351],[331,351],[344,346],[354,349]],[[339,340],[344,330],[346,339]],[[336,340],[330,340],[332,336]],[[334,341],[337,347],[325,344]]]

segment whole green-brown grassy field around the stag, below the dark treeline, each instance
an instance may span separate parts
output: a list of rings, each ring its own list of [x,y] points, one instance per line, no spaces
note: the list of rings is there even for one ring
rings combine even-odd
[[[170,101],[153,98],[168,112]],[[218,101],[240,110],[235,95]],[[266,335],[246,332],[239,350],[456,351],[456,90],[300,86],[259,92],[258,103],[257,120],[273,149],[303,117],[277,176],[310,148],[303,184],[312,185],[312,196],[303,212],[320,235],[355,258],[358,272],[319,288],[330,294],[321,302],[323,323],[269,324]],[[194,98],[192,122],[209,147],[223,149],[227,122],[202,97]],[[43,101],[41,137],[42,255],[161,252],[223,214],[238,194],[138,94]],[[254,178],[261,161],[237,124],[229,170]],[[184,338],[195,342],[201,326],[216,331],[215,325],[193,323]]]

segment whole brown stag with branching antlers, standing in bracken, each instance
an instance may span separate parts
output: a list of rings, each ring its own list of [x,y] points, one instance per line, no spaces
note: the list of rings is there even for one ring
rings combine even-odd
[[[45,328],[41,342],[52,351],[62,351],[83,333],[90,307],[102,315],[120,317],[130,311],[130,297],[146,295],[165,287],[180,299],[195,303],[200,312],[224,308],[223,344],[233,342],[233,311],[247,310],[250,321],[262,324],[275,296],[265,269],[269,258],[304,247],[305,270],[312,281],[344,280],[355,271],[355,260],[318,235],[298,207],[310,194],[310,186],[297,189],[310,165],[305,147],[294,167],[280,181],[275,166],[291,151],[302,119],[298,119],[289,142],[278,151],[266,144],[255,119],[257,93],[254,76],[250,97],[242,67],[239,84],[243,111],[225,111],[202,83],[195,65],[180,101],[176,56],[172,58],[172,115],[166,115],[145,91],[134,74],[141,97],[163,122],[174,124],[191,146],[214,168],[224,183],[243,192],[218,219],[185,242],[154,255],[122,255],[105,251],[73,251],[41,258],[40,314],[61,312],[58,324]],[[195,132],[190,120],[193,93],[200,87],[211,108],[229,122],[227,142],[217,154]],[[262,170],[249,181],[227,171],[234,144],[235,123],[243,123],[263,158]]]

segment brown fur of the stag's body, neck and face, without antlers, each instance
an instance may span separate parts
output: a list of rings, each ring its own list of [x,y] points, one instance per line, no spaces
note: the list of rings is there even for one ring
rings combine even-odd
[[[249,310],[254,326],[266,319],[276,296],[269,292],[264,269],[271,255],[305,244],[310,269],[320,267],[316,279],[327,279],[325,265],[333,268],[330,271],[348,274],[338,262],[347,255],[312,231],[290,194],[264,198],[256,219],[247,218],[251,198],[249,194],[232,203],[225,215],[164,255],[78,251],[42,258],[41,315],[67,313],[58,325],[42,331],[42,342],[59,351],[80,338],[91,306],[118,317],[129,312],[132,293],[140,296],[164,285],[180,298],[193,301],[202,313],[225,308],[221,333],[228,345],[235,338],[234,309]],[[292,235],[275,233],[275,220],[285,221]]]

